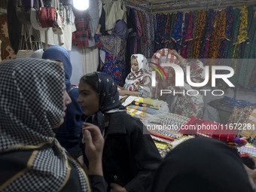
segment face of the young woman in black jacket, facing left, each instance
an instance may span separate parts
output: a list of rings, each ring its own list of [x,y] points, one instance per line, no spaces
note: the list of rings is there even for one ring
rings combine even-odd
[[[84,81],[80,81],[78,103],[87,116],[96,114],[99,111],[99,94]]]

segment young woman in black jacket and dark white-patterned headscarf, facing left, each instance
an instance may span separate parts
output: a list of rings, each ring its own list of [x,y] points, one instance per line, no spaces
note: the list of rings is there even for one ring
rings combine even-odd
[[[84,75],[78,102],[86,121],[99,126],[105,138],[102,165],[108,191],[145,191],[161,157],[142,122],[126,114],[111,77],[102,72]],[[84,163],[88,165],[86,156]]]

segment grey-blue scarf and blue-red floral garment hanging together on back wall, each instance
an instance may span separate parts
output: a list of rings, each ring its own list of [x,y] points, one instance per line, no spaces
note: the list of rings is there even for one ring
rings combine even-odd
[[[94,38],[99,49],[105,51],[103,72],[110,75],[117,85],[123,86],[126,71],[124,62],[126,38],[128,36],[126,23],[124,20],[117,20],[112,35],[100,35],[100,28],[99,24]]]

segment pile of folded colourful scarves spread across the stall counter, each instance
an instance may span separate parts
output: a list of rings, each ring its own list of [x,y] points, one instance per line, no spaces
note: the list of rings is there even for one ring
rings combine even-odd
[[[233,126],[172,114],[166,107],[166,102],[157,99],[135,99],[126,107],[128,114],[145,124],[162,157],[194,136],[218,139],[233,148],[241,148],[247,143],[246,139],[237,138],[237,130]],[[196,128],[191,129],[193,126]]]

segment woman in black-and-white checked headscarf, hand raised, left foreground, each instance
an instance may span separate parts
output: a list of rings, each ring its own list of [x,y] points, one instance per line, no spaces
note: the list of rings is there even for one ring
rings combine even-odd
[[[62,64],[32,58],[2,62],[0,83],[0,190],[90,191],[84,170],[54,138],[71,102]],[[93,124],[83,133],[90,162],[98,162],[90,163],[92,186],[104,188],[103,138]]]

